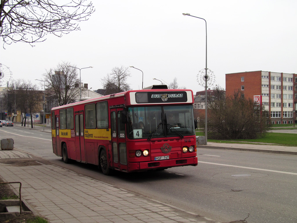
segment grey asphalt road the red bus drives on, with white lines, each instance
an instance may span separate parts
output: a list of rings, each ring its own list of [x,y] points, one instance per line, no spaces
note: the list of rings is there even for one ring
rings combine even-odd
[[[53,164],[201,216],[220,222],[297,222],[296,155],[198,149],[197,167],[105,176],[93,165],[64,164],[52,153],[50,134],[21,131],[3,127],[0,137],[13,138],[16,148]]]

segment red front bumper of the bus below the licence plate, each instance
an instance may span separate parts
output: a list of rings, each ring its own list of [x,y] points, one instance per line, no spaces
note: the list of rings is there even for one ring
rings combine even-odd
[[[159,161],[149,162],[135,162],[128,163],[128,172],[145,171],[150,169],[167,169],[171,167],[182,167],[182,166],[197,166],[198,158],[189,157],[181,159],[168,159]]]

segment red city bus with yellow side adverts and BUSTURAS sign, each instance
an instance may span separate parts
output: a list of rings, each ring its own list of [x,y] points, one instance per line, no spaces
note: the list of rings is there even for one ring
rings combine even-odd
[[[197,166],[193,92],[160,86],[53,108],[53,153],[105,175]]]

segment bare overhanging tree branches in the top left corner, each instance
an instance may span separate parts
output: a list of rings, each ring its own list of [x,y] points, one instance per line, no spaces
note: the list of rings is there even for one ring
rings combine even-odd
[[[92,3],[86,0],[61,5],[54,0],[1,0],[0,36],[7,44],[32,45],[44,41],[48,33],[61,37],[80,30],[77,23],[88,20],[94,11]]]

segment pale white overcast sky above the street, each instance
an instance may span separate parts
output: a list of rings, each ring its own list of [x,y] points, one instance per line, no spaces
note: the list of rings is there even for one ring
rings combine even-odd
[[[58,0],[56,0],[58,1]],[[47,35],[31,47],[12,43],[0,48],[0,63],[13,79],[43,85],[42,74],[62,61],[82,69],[92,90],[113,67],[132,65],[143,71],[143,86],[168,84],[203,90],[197,75],[207,67],[215,84],[225,88],[225,74],[244,71],[297,73],[297,1],[96,0],[96,11],[80,23],[80,31],[62,37]],[[2,41],[1,41],[2,42]],[[79,70],[78,70],[79,72]],[[141,89],[142,73],[130,69],[128,83]],[[209,86],[213,88],[214,86]]]

